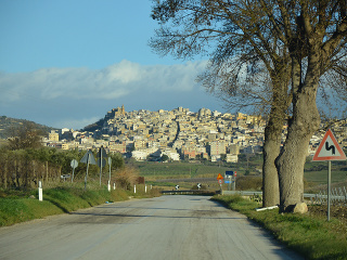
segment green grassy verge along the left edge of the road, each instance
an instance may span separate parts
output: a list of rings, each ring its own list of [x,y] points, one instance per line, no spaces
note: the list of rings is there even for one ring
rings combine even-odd
[[[89,188],[81,186],[59,186],[43,190],[43,202],[38,200],[37,191],[27,193],[0,193],[0,226],[41,219],[47,216],[72,212],[77,209],[93,207],[106,202],[121,202],[129,197],[158,196],[157,190],[138,187],[137,193],[124,190],[108,192],[106,187]],[[36,198],[30,198],[30,196]]]

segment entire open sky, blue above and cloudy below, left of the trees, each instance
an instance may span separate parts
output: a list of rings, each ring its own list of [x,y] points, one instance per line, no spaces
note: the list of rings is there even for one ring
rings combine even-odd
[[[226,112],[206,61],[153,53],[150,0],[1,0],[0,116],[80,129],[112,108]]]

